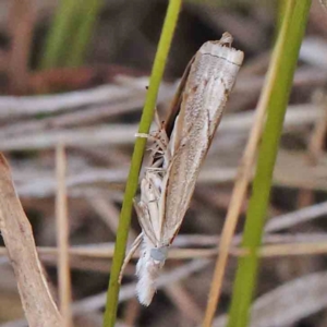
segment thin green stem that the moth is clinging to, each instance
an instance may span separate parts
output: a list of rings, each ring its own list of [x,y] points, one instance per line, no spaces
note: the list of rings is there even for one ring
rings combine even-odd
[[[140,122],[138,133],[148,133],[153,118],[159,85],[162,78],[167,56],[170,49],[173,32],[178,22],[182,0],[170,0],[164,27],[156,53],[149,88],[146,95],[145,105]],[[138,173],[142,165],[142,158],[145,150],[146,140],[138,137],[135,142],[130,173],[128,178],[124,199],[120,213],[119,227],[116,238],[114,254],[110,271],[109,289],[107,293],[106,312],[104,317],[104,327],[113,327],[118,307],[118,295],[120,284],[118,282],[120,269],[124,259],[128,234],[131,223],[131,213],[133,208],[133,197],[137,190]]]

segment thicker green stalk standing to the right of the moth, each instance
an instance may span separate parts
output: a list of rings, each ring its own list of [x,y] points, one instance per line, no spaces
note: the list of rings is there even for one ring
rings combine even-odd
[[[272,171],[311,0],[286,0],[283,22],[272,53],[262,101],[267,121],[259,146],[256,174],[246,213],[242,246],[250,255],[239,259],[228,327],[245,327],[258,269],[256,255],[262,242]]]

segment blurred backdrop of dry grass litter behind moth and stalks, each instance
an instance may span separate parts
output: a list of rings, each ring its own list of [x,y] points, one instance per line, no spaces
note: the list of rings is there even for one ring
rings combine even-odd
[[[175,239],[175,256],[166,263],[162,288],[148,308],[142,307],[135,300],[132,261],[117,326],[184,327],[202,322],[218,237],[282,7],[282,0],[184,1],[158,98],[162,119],[179,78],[203,43],[229,32],[245,61]],[[10,161],[57,296],[55,150],[61,142],[66,147],[76,327],[101,326],[134,134],[166,9],[164,0],[0,0],[0,150]],[[275,169],[268,216],[279,222],[271,223],[265,243],[327,238],[327,204],[317,207],[327,201],[326,37],[327,11],[316,0]],[[304,207],[311,211],[296,214]],[[293,218],[286,216],[291,211]],[[138,232],[134,215],[131,241]],[[181,249],[201,250],[198,258],[186,252],[179,255]],[[232,257],[217,317],[228,310],[235,263]],[[324,254],[264,258],[252,326],[327,326],[326,267]],[[3,247],[0,276],[0,327],[26,326]],[[223,326],[221,322],[215,326]]]

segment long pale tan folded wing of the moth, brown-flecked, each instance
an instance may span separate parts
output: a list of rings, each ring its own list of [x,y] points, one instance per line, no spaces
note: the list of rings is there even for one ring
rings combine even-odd
[[[174,125],[174,155],[161,197],[162,241],[175,237],[194,192],[201,165],[220,122],[243,52],[206,43],[192,63]]]

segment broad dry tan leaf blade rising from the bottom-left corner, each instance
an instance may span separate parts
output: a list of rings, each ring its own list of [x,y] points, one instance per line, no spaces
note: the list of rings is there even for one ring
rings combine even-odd
[[[36,253],[31,225],[16,196],[9,165],[2,155],[0,155],[0,227],[29,326],[61,327],[60,314]]]

